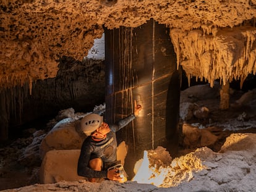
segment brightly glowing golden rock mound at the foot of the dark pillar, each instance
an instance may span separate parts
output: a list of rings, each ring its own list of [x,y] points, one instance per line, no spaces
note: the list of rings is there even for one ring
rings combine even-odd
[[[168,188],[183,181],[189,182],[194,177],[193,172],[203,168],[195,152],[171,161],[166,149],[158,147],[155,150],[144,151],[143,159],[135,164],[135,176],[132,181]]]

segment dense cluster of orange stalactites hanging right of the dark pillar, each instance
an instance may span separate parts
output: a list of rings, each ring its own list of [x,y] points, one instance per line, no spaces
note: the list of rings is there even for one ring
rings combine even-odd
[[[204,77],[210,86],[216,79],[228,83],[255,73],[256,28],[244,27],[233,30],[214,31],[214,35],[203,35],[205,31],[170,31],[177,64],[182,65],[187,75]]]

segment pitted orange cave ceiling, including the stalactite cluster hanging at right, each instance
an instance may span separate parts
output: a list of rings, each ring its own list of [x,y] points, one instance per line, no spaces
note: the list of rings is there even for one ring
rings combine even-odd
[[[256,72],[255,0],[1,0],[0,88],[53,78],[58,59],[82,60],[103,26],[170,28],[187,75],[213,85]]]

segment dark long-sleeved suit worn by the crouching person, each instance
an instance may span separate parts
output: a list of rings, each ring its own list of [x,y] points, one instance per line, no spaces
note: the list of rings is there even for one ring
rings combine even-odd
[[[125,127],[128,123],[135,119],[134,114],[129,115],[125,119],[120,120],[117,125],[109,125],[110,132],[102,141],[94,141],[92,136],[88,136],[80,152],[77,173],[80,176],[88,178],[107,178],[108,170],[96,171],[90,169],[89,161],[94,158],[101,158],[103,163],[111,163],[116,161],[116,131]]]

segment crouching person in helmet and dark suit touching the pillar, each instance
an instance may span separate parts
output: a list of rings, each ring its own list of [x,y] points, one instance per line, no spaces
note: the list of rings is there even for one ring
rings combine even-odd
[[[116,131],[125,127],[135,119],[142,106],[135,101],[134,114],[120,120],[117,125],[108,125],[98,114],[89,114],[81,120],[81,128],[87,138],[83,141],[77,173],[96,182],[98,178],[105,178],[118,182],[125,182],[127,178],[120,173],[120,162],[116,160]],[[113,169],[111,169],[113,167]],[[124,172],[125,173],[125,172]]]

